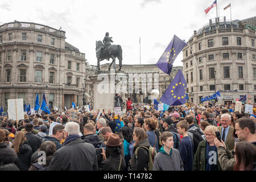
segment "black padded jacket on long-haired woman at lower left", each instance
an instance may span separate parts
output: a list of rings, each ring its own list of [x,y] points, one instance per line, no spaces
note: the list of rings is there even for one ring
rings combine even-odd
[[[32,156],[32,148],[27,141],[20,143],[17,167],[20,171],[27,171],[30,168],[30,159]]]

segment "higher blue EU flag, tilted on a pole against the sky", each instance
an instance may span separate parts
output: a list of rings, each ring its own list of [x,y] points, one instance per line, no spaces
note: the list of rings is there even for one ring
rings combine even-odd
[[[183,42],[183,40],[174,35],[174,38],[172,38],[172,41],[158,60],[158,63],[156,63],[156,66],[160,68],[164,73],[170,75],[172,71],[172,64],[174,63],[176,57],[179,55],[180,51],[186,45],[187,43]]]

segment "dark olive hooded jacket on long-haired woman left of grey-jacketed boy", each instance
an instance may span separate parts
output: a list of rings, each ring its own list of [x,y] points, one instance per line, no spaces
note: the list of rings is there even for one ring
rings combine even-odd
[[[137,143],[136,146],[133,148],[133,156],[131,158],[131,171],[144,171],[144,168],[147,168],[148,164],[148,150],[141,147],[138,149],[138,158],[135,157],[135,150],[139,146],[145,146],[147,148],[150,147],[150,143],[148,142],[147,138],[141,140]],[[138,163],[137,163],[138,162]]]

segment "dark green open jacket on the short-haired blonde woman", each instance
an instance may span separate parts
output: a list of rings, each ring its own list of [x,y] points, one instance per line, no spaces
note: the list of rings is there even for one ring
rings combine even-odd
[[[199,143],[196,154],[193,161],[193,171],[205,171],[205,159],[206,159],[206,142],[203,140]],[[218,171],[222,171],[220,163],[217,160]]]

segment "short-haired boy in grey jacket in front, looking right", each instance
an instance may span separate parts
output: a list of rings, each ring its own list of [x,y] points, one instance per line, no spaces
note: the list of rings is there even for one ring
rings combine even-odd
[[[153,171],[183,171],[183,161],[180,152],[174,148],[174,138],[170,131],[160,135],[163,147],[154,158]]]

